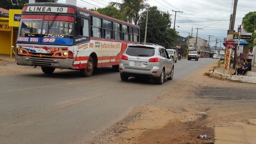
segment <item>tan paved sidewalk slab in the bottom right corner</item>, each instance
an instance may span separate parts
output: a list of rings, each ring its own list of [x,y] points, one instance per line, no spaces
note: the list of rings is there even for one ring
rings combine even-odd
[[[256,119],[248,120],[248,123],[235,122],[233,126],[215,127],[214,144],[256,144]]]

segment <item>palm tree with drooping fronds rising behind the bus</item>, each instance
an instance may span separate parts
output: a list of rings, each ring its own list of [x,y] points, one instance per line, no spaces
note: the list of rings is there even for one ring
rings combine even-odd
[[[140,18],[139,12],[147,8],[149,5],[146,0],[122,0],[122,3],[111,2],[109,6],[116,6],[121,12],[125,13],[125,21],[137,25]]]

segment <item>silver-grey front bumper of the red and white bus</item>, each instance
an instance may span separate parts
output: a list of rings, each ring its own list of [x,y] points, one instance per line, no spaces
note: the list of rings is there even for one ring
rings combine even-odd
[[[73,69],[74,59],[35,58],[17,56],[17,64],[23,66],[47,66],[58,69]]]

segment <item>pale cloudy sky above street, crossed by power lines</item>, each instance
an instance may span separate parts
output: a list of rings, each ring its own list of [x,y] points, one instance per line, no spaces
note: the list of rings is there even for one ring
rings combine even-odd
[[[58,3],[65,3],[66,0],[58,0]],[[122,3],[122,0],[77,0],[77,6],[91,8],[103,8],[108,6],[110,2]],[[224,37],[227,37],[227,30],[230,23],[230,14],[233,13],[234,0],[147,0],[150,6],[157,6],[160,11],[172,14],[172,28],[175,21],[175,29],[180,36],[187,37],[192,32],[192,36],[196,37],[198,29],[198,37],[209,40],[210,45],[215,46],[217,38],[217,46],[220,41],[223,43]],[[256,11],[255,0],[238,0],[236,10],[235,30],[241,24],[242,18],[248,12]]]

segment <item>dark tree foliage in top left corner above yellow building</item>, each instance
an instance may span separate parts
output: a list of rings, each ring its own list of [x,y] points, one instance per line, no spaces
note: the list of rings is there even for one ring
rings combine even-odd
[[[51,2],[51,0],[35,0],[36,3]],[[22,9],[29,0],[0,0],[0,7],[4,9]]]

